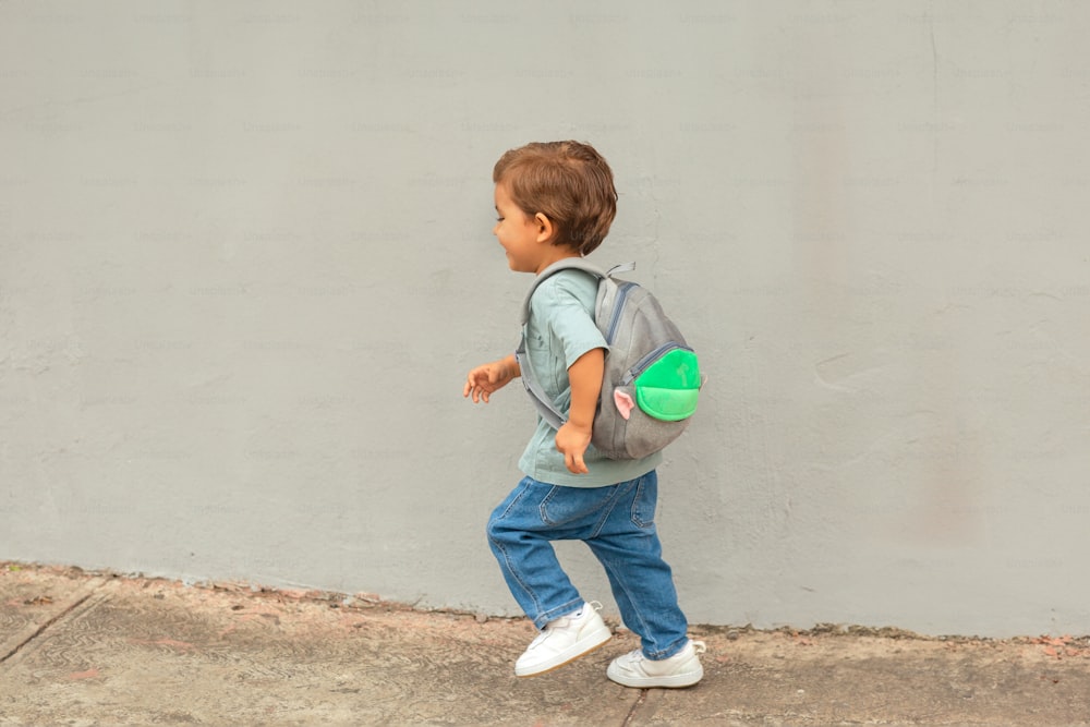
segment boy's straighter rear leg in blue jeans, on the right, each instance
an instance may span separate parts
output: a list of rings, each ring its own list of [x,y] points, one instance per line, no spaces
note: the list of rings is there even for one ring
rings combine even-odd
[[[586,541],[602,562],[621,618],[651,659],[674,656],[689,641],[670,567],[655,529],[658,480],[654,471],[626,485],[601,532]]]

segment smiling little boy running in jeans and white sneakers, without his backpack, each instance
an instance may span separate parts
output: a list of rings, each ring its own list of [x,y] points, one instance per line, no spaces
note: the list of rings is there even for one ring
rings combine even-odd
[[[493,234],[517,272],[540,274],[596,249],[617,211],[613,172],[578,142],[528,144],[493,170],[498,219]],[[526,355],[567,423],[538,417],[519,461],[525,477],[488,520],[488,542],[519,605],[541,633],[514,665],[529,677],[601,646],[611,633],[560,568],[550,541],[586,543],[609,578],[625,625],[641,649],[615,658],[609,679],[634,688],[690,687],[703,677],[704,644],[686,634],[670,568],[655,530],[655,467],[662,455],[611,460],[591,445],[606,342],[594,324],[597,279],[561,270],[530,302]],[[469,373],[463,396],[488,402],[520,376],[513,355]]]

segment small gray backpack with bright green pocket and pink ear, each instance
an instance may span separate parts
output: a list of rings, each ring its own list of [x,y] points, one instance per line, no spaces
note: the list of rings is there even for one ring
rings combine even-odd
[[[583,258],[566,257],[542,270],[522,304],[522,340],[514,354],[522,383],[542,419],[559,429],[564,414],[553,405],[530,367],[525,325],[537,286],[553,274],[572,268],[598,278],[594,323],[609,347],[591,443],[610,459],[647,457],[685,431],[697,411],[704,379],[697,354],[655,296],[634,282],[613,277],[633,270],[633,263],[603,271]]]

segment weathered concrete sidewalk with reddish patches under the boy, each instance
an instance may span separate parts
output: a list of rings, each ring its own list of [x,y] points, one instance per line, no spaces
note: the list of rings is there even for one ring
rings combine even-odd
[[[0,564],[0,725],[1090,725],[1090,640],[693,628],[705,677],[631,690],[622,633],[512,675],[523,619]]]

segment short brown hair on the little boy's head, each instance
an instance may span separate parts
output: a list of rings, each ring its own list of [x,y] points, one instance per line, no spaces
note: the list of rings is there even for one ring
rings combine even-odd
[[[492,170],[506,182],[519,209],[553,221],[554,245],[586,255],[602,244],[617,215],[613,171],[590,144],[533,142],[510,149]]]

